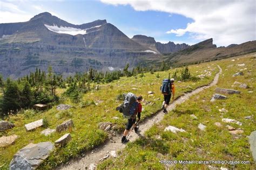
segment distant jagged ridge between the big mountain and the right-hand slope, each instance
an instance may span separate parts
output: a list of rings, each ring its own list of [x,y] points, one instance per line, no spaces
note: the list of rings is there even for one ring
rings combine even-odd
[[[173,42],[169,42],[166,44],[156,42],[153,37],[147,37],[143,35],[136,35],[132,37],[132,40],[135,42],[148,47],[149,49],[156,51],[158,53],[166,54],[172,53],[179,50],[186,49],[189,45],[183,44],[174,44]]]

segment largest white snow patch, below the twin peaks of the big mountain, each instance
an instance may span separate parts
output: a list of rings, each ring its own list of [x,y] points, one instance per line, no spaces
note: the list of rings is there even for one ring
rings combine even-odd
[[[92,28],[98,28],[99,26],[102,26],[102,25],[93,26],[91,28],[83,29],[83,30],[82,29],[77,29],[77,28],[72,28],[72,27],[66,27],[66,26],[57,26],[55,24],[53,24],[53,26],[44,24],[44,26],[48,30],[56,32],[56,33],[66,33],[66,34],[75,36],[75,35],[78,35],[78,34],[85,35],[86,33],[88,33],[88,32],[86,32],[86,30],[89,30],[89,29],[92,29]]]

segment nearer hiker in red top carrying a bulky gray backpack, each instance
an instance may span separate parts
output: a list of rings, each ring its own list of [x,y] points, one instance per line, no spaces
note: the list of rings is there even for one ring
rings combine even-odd
[[[123,113],[123,117],[128,119],[123,137],[121,139],[122,143],[128,141],[126,137],[133,128],[136,133],[138,131],[137,123],[140,120],[140,113],[142,112],[142,104],[140,104],[142,99],[142,96],[137,98],[133,93],[129,92],[125,95],[124,103],[116,108],[117,111]],[[137,123],[136,115],[138,117]]]

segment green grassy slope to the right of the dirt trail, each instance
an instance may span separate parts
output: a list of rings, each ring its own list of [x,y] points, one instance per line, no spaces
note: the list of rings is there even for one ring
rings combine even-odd
[[[255,57],[252,55],[228,58],[221,61],[211,62],[219,64],[223,69],[220,75],[218,87],[235,89],[241,91],[241,94],[226,95],[226,100],[217,100],[210,102],[214,90],[217,86],[204,90],[185,103],[178,105],[175,110],[165,115],[160,123],[153,125],[150,130],[145,132],[145,137],[130,143],[120,153],[116,159],[109,159],[98,165],[99,169],[165,169],[160,160],[246,160],[249,165],[211,165],[220,168],[235,169],[254,169],[255,164],[250,152],[250,144],[247,135],[256,130],[255,112]],[[231,62],[235,59],[234,62]],[[246,64],[247,70],[244,70],[244,76],[232,77],[232,75],[245,67],[236,64]],[[234,66],[228,67],[233,64]],[[233,86],[234,81],[245,83],[250,89],[240,89]],[[253,91],[253,93],[248,93]],[[224,94],[225,95],[225,94]],[[220,113],[219,109],[225,108],[227,113]],[[143,114],[143,113],[142,113]],[[193,120],[190,114],[198,117]],[[246,116],[253,115],[248,120]],[[223,123],[222,118],[231,118],[238,120],[242,126],[236,124]],[[215,122],[221,123],[222,127],[214,125]],[[205,131],[200,131],[199,123],[206,125]],[[175,126],[183,128],[186,132],[172,133],[164,132],[165,127]],[[232,135],[228,132],[226,125],[235,128],[241,128],[244,133]],[[151,157],[151,155],[154,155]],[[190,165],[171,165],[170,169],[208,169],[204,164]]]

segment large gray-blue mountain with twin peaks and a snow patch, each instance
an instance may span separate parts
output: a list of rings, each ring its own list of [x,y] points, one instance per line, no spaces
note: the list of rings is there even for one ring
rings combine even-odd
[[[153,53],[134,42],[106,20],[82,25],[63,21],[48,12],[28,22],[0,24],[0,73],[17,78],[47,70],[72,74],[90,67],[116,70],[126,63],[135,66]]]

